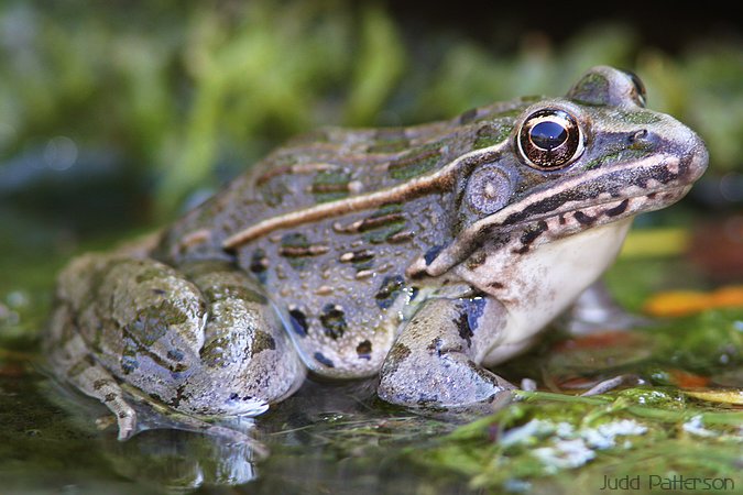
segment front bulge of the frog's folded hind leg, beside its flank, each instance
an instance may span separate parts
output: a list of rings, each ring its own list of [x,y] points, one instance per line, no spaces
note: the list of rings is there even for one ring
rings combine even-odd
[[[209,315],[200,372],[188,378],[189,393],[181,397],[178,409],[258,415],[293,394],[306,369],[258,282],[221,261],[190,262],[178,268],[199,288]]]

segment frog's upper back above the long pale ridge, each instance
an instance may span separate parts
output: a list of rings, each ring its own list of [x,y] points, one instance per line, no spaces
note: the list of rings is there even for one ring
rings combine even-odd
[[[467,151],[492,145],[513,129],[522,100],[472,109],[460,117],[413,127],[326,128],[276,148],[250,173],[176,224],[230,235],[247,227],[320,204],[365,196],[434,174]],[[494,119],[494,120],[493,120]],[[482,121],[490,123],[483,125]]]

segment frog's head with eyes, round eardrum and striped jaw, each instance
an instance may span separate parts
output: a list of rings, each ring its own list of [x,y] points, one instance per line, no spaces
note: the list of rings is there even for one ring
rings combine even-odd
[[[528,251],[547,232],[561,239],[664,208],[707,167],[700,138],[645,109],[640,79],[611,67],[590,69],[565,98],[524,106],[513,119],[507,139],[462,168],[456,241],[418,266],[427,274],[494,238],[522,239],[510,249]]]

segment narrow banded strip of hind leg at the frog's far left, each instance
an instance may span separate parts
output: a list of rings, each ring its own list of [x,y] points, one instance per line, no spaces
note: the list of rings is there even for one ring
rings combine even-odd
[[[109,408],[119,427],[119,440],[131,437],[136,428],[136,413],[124,399],[123,391],[113,376],[90,356],[83,338],[75,330],[67,306],[57,307],[48,330],[44,353],[54,372]]]

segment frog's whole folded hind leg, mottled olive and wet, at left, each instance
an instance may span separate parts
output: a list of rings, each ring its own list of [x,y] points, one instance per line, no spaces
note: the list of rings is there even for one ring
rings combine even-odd
[[[255,415],[305,369],[260,286],[223,262],[179,267],[86,255],[63,272],[47,338],[57,373],[119,418],[135,416],[121,384],[189,415]]]

